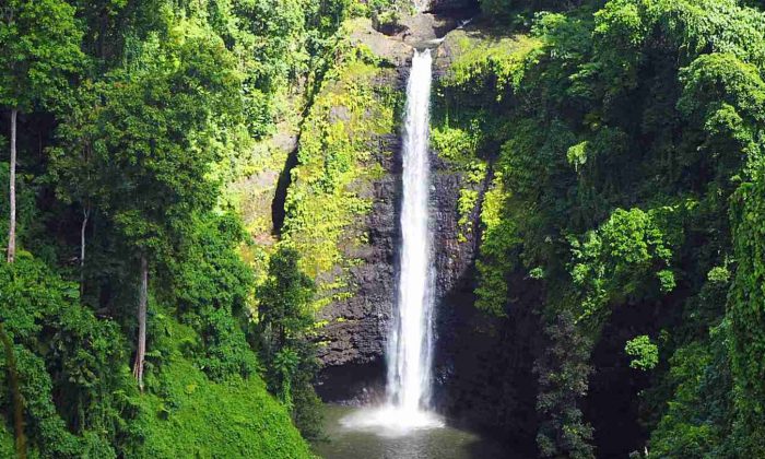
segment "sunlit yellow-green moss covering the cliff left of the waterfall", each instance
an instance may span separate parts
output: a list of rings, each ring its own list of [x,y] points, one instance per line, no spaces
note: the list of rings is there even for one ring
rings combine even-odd
[[[348,23],[357,28],[360,20]],[[389,87],[398,70],[369,47],[349,39],[305,118],[292,170],[283,242],[302,254],[319,284],[316,308],[353,294],[345,272],[364,244],[370,192],[380,177],[379,139],[397,134],[401,95]]]

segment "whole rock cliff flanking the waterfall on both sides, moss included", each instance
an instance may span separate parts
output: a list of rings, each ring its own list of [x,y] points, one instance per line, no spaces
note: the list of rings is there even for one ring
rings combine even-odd
[[[482,204],[487,192],[496,195],[492,161],[498,143],[472,138],[475,120],[491,118],[480,113],[486,101],[448,84],[466,59],[486,56],[474,54],[485,36],[459,28],[454,14],[421,15],[408,24],[386,36],[368,20],[349,22],[343,55],[301,129],[283,239],[302,251],[303,268],[319,282],[316,339],[323,368],[317,390],[325,401],[348,403],[384,393],[398,291],[400,133],[411,45],[446,35],[434,51],[431,151],[436,400],[460,422],[498,435],[515,432],[517,443],[528,444],[537,427],[526,420],[534,416],[538,318],[530,309],[497,318],[475,307]]]

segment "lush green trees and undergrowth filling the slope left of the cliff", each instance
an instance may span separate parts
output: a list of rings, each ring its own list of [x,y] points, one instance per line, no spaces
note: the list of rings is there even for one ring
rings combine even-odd
[[[0,456],[310,456],[313,280],[229,184],[285,167],[349,7],[2,3]]]

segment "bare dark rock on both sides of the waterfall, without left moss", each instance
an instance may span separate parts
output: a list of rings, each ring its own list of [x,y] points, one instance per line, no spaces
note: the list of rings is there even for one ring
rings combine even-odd
[[[386,37],[368,27],[357,28],[353,37],[396,66],[395,72],[385,73],[374,84],[393,87],[403,96],[411,56],[411,48],[403,42],[411,38]],[[456,59],[452,54],[459,52],[449,39],[444,45],[434,62],[434,129],[445,128],[444,119],[448,118],[439,111],[444,108],[444,94],[439,93],[437,81],[447,78]],[[515,433],[508,439],[522,448],[533,443],[537,428],[528,420],[536,416],[537,378],[532,364],[542,349],[538,317],[532,309],[519,308],[506,318],[489,318],[474,306],[481,202],[492,179],[493,153],[444,152],[438,151],[438,142],[432,143],[436,400],[442,412],[474,428],[502,436]],[[349,270],[353,294],[332,301],[321,310],[327,325],[320,332],[326,344],[320,355],[325,367],[318,391],[326,401],[365,402],[379,399],[385,388],[387,333],[398,293],[400,119],[395,130],[375,136],[369,145],[373,154],[368,161],[379,164],[381,174],[360,186],[372,202],[370,211],[360,223],[368,237],[364,244],[343,250],[345,257],[357,260]],[[476,165],[481,170],[478,178]],[[466,207],[462,201],[467,196],[474,198]],[[521,284],[520,280],[517,284]],[[540,292],[521,292],[517,296],[528,297],[519,304],[533,305],[531,298],[539,295]]]

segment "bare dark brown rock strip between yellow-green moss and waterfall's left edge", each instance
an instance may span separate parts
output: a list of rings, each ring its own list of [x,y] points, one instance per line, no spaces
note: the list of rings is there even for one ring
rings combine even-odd
[[[350,270],[357,290],[321,311],[321,318],[330,320],[321,330],[328,344],[319,354],[325,365],[319,393],[326,401],[362,401],[379,397],[384,389],[386,336],[397,290],[401,149],[395,133],[380,137],[378,142],[374,156],[385,174],[369,184],[373,205],[363,223],[368,244],[349,254],[360,260]],[[343,320],[331,321],[337,317]]]

